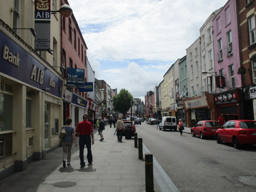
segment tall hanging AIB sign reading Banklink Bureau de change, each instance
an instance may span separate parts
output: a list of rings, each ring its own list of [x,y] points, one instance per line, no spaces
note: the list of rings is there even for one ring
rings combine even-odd
[[[35,50],[51,48],[51,0],[35,0]]]

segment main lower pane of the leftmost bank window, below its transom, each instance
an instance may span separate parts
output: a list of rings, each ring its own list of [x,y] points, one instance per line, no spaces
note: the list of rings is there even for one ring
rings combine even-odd
[[[12,130],[12,96],[0,93],[0,131]]]

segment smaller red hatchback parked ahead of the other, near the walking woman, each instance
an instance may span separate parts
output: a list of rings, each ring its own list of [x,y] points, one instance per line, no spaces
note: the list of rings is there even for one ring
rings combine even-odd
[[[199,121],[192,128],[192,136],[200,136],[201,139],[204,139],[206,136],[215,136],[216,131],[221,127],[218,121]]]

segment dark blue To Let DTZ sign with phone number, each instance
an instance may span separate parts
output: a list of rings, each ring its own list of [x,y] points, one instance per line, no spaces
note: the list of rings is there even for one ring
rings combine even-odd
[[[67,86],[84,87],[84,69],[67,68]]]

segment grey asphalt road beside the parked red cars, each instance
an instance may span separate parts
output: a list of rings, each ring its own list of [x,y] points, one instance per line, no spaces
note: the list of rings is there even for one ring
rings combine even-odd
[[[255,191],[256,145],[237,150],[215,138],[180,136],[145,122],[136,125],[136,132],[180,192]]]

